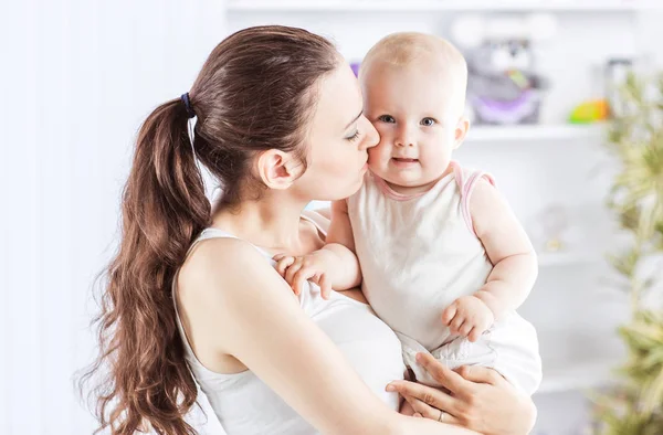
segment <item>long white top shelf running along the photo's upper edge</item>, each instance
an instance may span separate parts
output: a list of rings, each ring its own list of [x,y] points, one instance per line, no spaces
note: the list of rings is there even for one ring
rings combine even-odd
[[[496,4],[498,3],[498,4]],[[230,12],[558,11],[628,12],[661,8],[655,0],[231,0]]]

